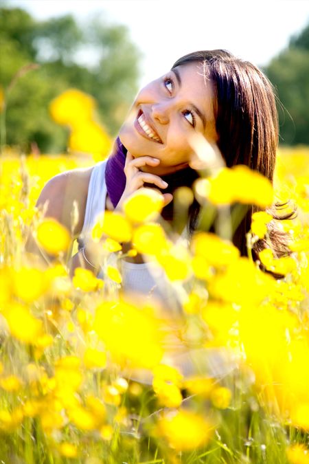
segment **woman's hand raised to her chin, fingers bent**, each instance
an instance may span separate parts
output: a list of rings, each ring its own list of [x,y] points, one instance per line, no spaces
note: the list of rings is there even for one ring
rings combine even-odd
[[[133,158],[130,152],[126,155],[126,164],[124,165],[124,173],[126,175],[126,187],[119,203],[116,206],[116,210],[121,210],[124,201],[130,197],[136,190],[144,187],[144,184],[154,184],[159,188],[166,188],[168,184],[161,179],[158,175],[144,173],[140,170],[142,166],[153,166],[157,167],[160,163],[158,158],[152,158],[150,156],[141,156]],[[168,205],[173,199],[171,193],[164,193],[164,206]]]

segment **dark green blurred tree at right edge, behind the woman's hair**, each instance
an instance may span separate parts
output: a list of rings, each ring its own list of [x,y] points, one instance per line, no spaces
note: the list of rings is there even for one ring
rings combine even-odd
[[[280,142],[309,144],[309,24],[264,71],[279,96]]]

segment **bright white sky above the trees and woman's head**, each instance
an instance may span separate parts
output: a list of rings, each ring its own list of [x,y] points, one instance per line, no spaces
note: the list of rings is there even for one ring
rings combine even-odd
[[[128,26],[144,59],[140,85],[198,49],[225,48],[265,65],[309,21],[309,0],[7,0],[37,19],[71,13]]]

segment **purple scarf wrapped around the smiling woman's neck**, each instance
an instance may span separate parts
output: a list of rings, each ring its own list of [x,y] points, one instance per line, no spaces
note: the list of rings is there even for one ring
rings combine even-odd
[[[115,141],[113,153],[108,157],[105,170],[105,181],[108,197],[111,199],[114,208],[117,206],[119,199],[122,197],[126,187],[126,175],[124,174],[124,164],[126,162],[127,149],[120,142],[119,137]],[[168,182],[168,188],[162,190],[156,186],[162,193],[173,193],[176,188],[181,186],[192,187],[194,180],[198,178],[198,173],[192,168],[185,168],[176,171],[176,173],[160,176],[165,182]],[[153,187],[152,184],[144,184],[145,187]],[[169,208],[170,206],[170,208]],[[165,206],[168,210],[172,208],[172,203]],[[164,208],[164,210],[165,210]],[[170,213],[168,213],[168,216]]]

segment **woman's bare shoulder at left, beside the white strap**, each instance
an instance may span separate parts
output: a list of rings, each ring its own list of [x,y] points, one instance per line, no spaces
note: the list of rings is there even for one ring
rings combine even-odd
[[[60,173],[45,184],[36,206],[43,208],[45,217],[53,217],[73,235],[78,235],[84,223],[89,181],[94,166],[75,168]],[[77,220],[72,213],[76,205]]]

